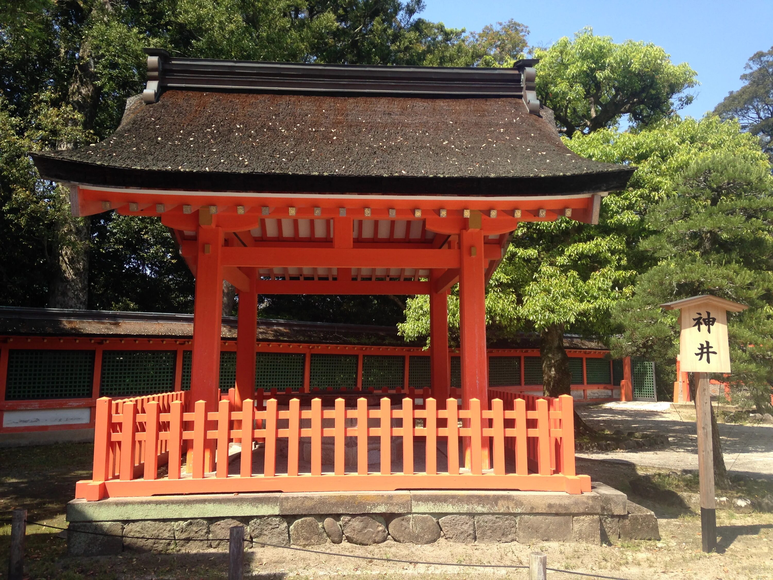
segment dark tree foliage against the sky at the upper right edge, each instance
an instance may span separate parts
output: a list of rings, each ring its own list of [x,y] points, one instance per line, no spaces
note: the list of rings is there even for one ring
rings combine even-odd
[[[754,53],[741,75],[744,86],[731,90],[714,113],[721,118],[737,118],[744,131],[760,138],[762,148],[773,159],[773,46]]]

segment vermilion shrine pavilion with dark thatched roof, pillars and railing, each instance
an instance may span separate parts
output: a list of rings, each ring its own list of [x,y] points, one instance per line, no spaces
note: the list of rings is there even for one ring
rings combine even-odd
[[[487,377],[485,285],[518,223],[597,223],[601,198],[634,171],[564,145],[536,100],[536,61],[368,67],[146,52],[147,87],[128,99],[113,135],[33,154],[43,178],[70,187],[74,215],[158,217],[196,277],[187,399],[97,401],[94,477],[77,496],[590,489],[574,474],[571,397],[493,397]],[[237,288],[239,312],[236,387],[221,401],[223,280]],[[447,305],[457,283],[459,408]],[[358,391],[330,404],[313,394],[279,407],[263,401],[259,294],[429,295],[430,396],[384,397],[375,407]],[[344,452],[349,438],[356,469]],[[369,438],[380,445],[379,469],[369,468]],[[329,461],[327,440],[335,440]],[[413,469],[417,441],[427,449],[421,470]],[[431,451],[441,442],[443,469]],[[235,443],[242,459],[231,473],[223,450]],[[161,462],[169,475],[158,475]]]

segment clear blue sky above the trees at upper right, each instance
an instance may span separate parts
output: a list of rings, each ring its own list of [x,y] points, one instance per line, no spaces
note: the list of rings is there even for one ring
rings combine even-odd
[[[486,24],[516,19],[529,26],[530,44],[550,45],[584,26],[615,42],[645,40],[666,49],[674,63],[687,62],[698,73],[695,101],[683,115],[702,117],[729,90],[749,56],[773,46],[773,1],[755,2],[560,2],[559,0],[425,0],[421,17],[446,26],[480,30]]]

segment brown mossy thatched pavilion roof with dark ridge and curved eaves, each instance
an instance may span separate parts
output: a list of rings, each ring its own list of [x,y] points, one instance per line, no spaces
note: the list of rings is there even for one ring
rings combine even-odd
[[[465,94],[432,94],[432,75],[453,87],[470,71],[414,67],[398,71],[402,92],[372,94],[342,93],[335,83],[353,74],[347,67],[312,67],[322,85],[309,91],[292,80],[298,65],[271,65],[259,89],[233,79],[264,63],[183,65],[198,67],[203,80],[179,73],[158,102],[132,97],[104,141],[33,155],[42,175],[95,186],[520,196],[621,189],[634,170],[571,152],[552,112],[525,104],[515,70],[475,70],[482,80]],[[397,68],[356,69],[358,87],[383,87],[380,75]],[[263,86],[271,74],[290,75],[300,89]],[[487,92],[488,77],[510,92]],[[231,80],[237,84],[226,90]]]

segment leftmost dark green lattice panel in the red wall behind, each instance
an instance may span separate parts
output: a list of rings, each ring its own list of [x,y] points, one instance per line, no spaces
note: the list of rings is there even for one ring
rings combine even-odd
[[[94,350],[9,350],[6,401],[91,396]]]

